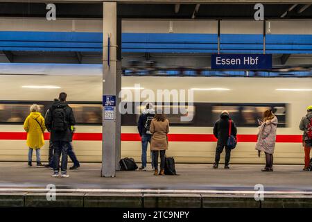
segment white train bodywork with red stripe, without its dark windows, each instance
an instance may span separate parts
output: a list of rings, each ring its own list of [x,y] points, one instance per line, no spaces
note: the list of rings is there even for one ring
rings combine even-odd
[[[0,111],[14,101],[21,104],[25,101],[52,101],[60,92],[67,92],[68,101],[75,103],[93,103],[102,101],[102,77],[98,74],[75,75],[1,75],[0,76]],[[77,72],[78,73],[78,72]],[[214,104],[212,109],[217,112],[220,104],[284,104],[284,126],[277,128],[278,142],[275,148],[275,163],[302,164],[304,150],[300,138],[300,119],[306,114],[306,106],[311,105],[311,78],[222,78],[222,77],[159,77],[159,76],[123,76],[122,87],[134,87],[140,84],[144,89],[191,89],[194,91],[194,105],[197,103]],[[58,86],[55,89],[34,89],[25,86]],[[24,87],[23,87],[24,86]],[[222,88],[224,90],[216,90]],[[277,90],[279,89],[279,90]],[[294,91],[289,91],[293,89]],[[297,90],[295,90],[297,89]],[[27,103],[27,104],[28,104]],[[27,105],[26,104],[26,105]],[[225,105],[226,106],[226,105]],[[227,105],[228,108],[229,105]],[[234,105],[232,105],[234,107]],[[222,107],[223,108],[223,107]],[[45,108],[46,109],[46,108]],[[252,108],[254,109],[254,108]],[[229,110],[231,112],[231,110]],[[232,110],[236,112],[237,110]],[[4,112],[4,111],[3,111]],[[81,113],[80,113],[81,114]],[[199,113],[196,113],[195,115]],[[202,113],[201,113],[202,114]],[[209,112],[207,111],[207,114]],[[214,114],[216,117],[216,114]],[[279,116],[277,116],[279,118]],[[1,117],[0,117],[1,118]],[[200,121],[200,119],[199,119]],[[216,121],[216,119],[214,119]],[[176,162],[211,163],[214,162],[216,142],[212,138],[212,121],[209,126],[173,124],[170,134],[173,135],[168,156],[174,156]],[[124,125],[124,124],[123,124]],[[126,124],[127,125],[127,124]],[[129,124],[128,124],[129,125]],[[130,124],[131,125],[131,124]],[[205,124],[204,124],[205,125]],[[77,135],[83,135],[80,140],[73,140],[73,148],[78,159],[82,162],[101,162],[102,141],[94,139],[101,137],[101,126],[76,126]],[[122,126],[122,157],[134,157],[141,161],[141,143],[138,139],[129,139],[131,135],[137,138],[137,126]],[[24,135],[21,123],[1,123],[0,125],[0,161],[26,161],[27,146],[22,139]],[[232,163],[262,163],[264,160],[257,157],[254,149],[254,137],[257,135],[257,126],[238,127],[241,141],[232,152]],[[92,135],[88,137],[88,135]],[[196,139],[196,137],[201,138]],[[284,137],[283,137],[284,135]],[[85,139],[83,139],[85,138]],[[125,139],[126,138],[126,139]],[[209,139],[210,138],[210,139]],[[134,140],[134,141],[130,141]],[[240,139],[239,139],[240,140]],[[42,147],[42,160],[47,160],[49,141]],[[224,155],[224,153],[223,153]],[[221,158],[223,159],[223,158]]]

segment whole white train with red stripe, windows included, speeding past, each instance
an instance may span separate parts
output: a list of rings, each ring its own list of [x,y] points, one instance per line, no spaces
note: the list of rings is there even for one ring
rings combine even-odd
[[[25,68],[26,69],[26,68]],[[33,103],[42,113],[60,92],[67,92],[78,126],[73,148],[82,162],[101,162],[101,72],[67,69],[65,73],[21,69],[0,75],[0,161],[26,161],[26,134],[22,123]],[[98,67],[96,68],[98,69]],[[3,69],[0,71],[3,73]],[[64,72],[64,71],[63,71]],[[87,74],[89,73],[89,74]],[[91,74],[90,74],[91,73]],[[232,163],[263,163],[254,146],[257,119],[266,108],[279,119],[276,164],[302,164],[302,132],[300,119],[311,105],[311,78],[222,78],[123,76],[122,87],[141,89],[193,89],[193,119],[181,122],[181,114],[168,115],[171,121],[168,156],[176,162],[212,163],[216,147],[212,126],[221,110],[229,110],[238,126],[238,145],[232,152]],[[121,156],[141,160],[141,143],[137,135],[137,114],[124,114],[121,127]],[[46,133],[46,139],[49,133]],[[42,148],[47,160],[49,140]],[[224,155],[224,153],[223,153]],[[221,158],[223,160],[223,158]]]

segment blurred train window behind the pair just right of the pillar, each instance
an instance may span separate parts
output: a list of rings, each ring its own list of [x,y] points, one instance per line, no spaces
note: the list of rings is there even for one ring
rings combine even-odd
[[[137,110],[140,110],[140,113],[143,112],[145,106],[138,105]],[[170,123],[173,124],[189,124],[194,122],[195,117],[195,106],[194,105],[155,105],[155,110],[162,110],[162,112],[169,113],[165,114],[166,118]],[[136,120],[139,120],[139,115],[137,114]]]

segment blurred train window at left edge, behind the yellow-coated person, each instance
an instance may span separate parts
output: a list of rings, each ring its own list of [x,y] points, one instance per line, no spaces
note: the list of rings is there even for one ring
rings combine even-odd
[[[1,123],[23,123],[30,113],[32,104],[0,104]],[[44,112],[44,105],[40,105],[41,112]]]

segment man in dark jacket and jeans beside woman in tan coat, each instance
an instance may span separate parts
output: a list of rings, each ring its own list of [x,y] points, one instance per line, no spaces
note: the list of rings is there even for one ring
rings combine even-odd
[[[142,155],[141,155],[141,161],[142,165],[139,167],[139,170],[146,171],[146,151],[148,143],[150,143],[150,139],[152,137],[152,134],[150,133],[150,123],[152,122],[152,119],[155,116],[155,110],[153,110],[152,104],[147,103],[146,109],[141,113],[139,116],[139,121],[137,122],[137,129],[139,131],[139,135],[141,137],[141,143],[142,143]],[[153,154],[152,154],[152,168],[153,167]]]

